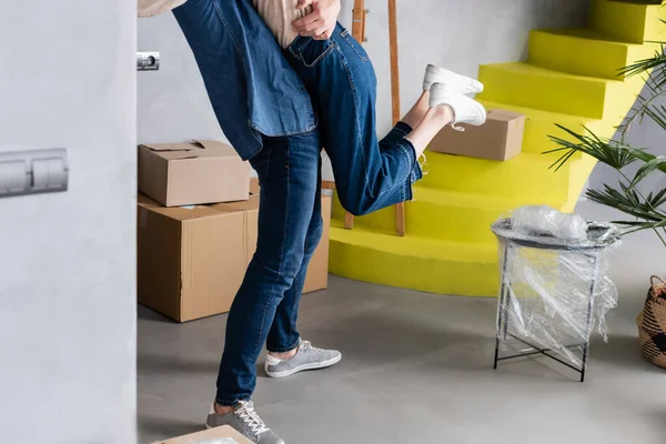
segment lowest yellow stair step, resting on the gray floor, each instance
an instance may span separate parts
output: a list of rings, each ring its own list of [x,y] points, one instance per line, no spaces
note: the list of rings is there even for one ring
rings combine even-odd
[[[333,274],[437,294],[494,296],[498,287],[496,244],[468,244],[331,228]]]

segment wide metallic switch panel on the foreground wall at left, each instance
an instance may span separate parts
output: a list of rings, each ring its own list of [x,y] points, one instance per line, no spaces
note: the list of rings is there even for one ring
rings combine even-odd
[[[0,199],[67,191],[68,182],[64,148],[0,152]]]

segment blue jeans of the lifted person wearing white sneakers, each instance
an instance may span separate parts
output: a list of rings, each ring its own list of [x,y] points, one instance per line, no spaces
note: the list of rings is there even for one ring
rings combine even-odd
[[[376,77],[361,44],[337,24],[330,40],[297,37],[285,54],[312,98],[345,210],[363,215],[411,200],[423,176],[404,139],[412,129],[398,122],[377,140]]]

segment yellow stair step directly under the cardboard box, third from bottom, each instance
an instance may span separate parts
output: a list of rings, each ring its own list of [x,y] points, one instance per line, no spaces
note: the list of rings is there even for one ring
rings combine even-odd
[[[583,157],[555,172],[548,167],[558,154],[522,153],[506,162],[434,152],[426,155],[427,174],[420,182],[422,186],[546,202],[576,200],[575,193],[581,192],[595,165],[594,159]]]

